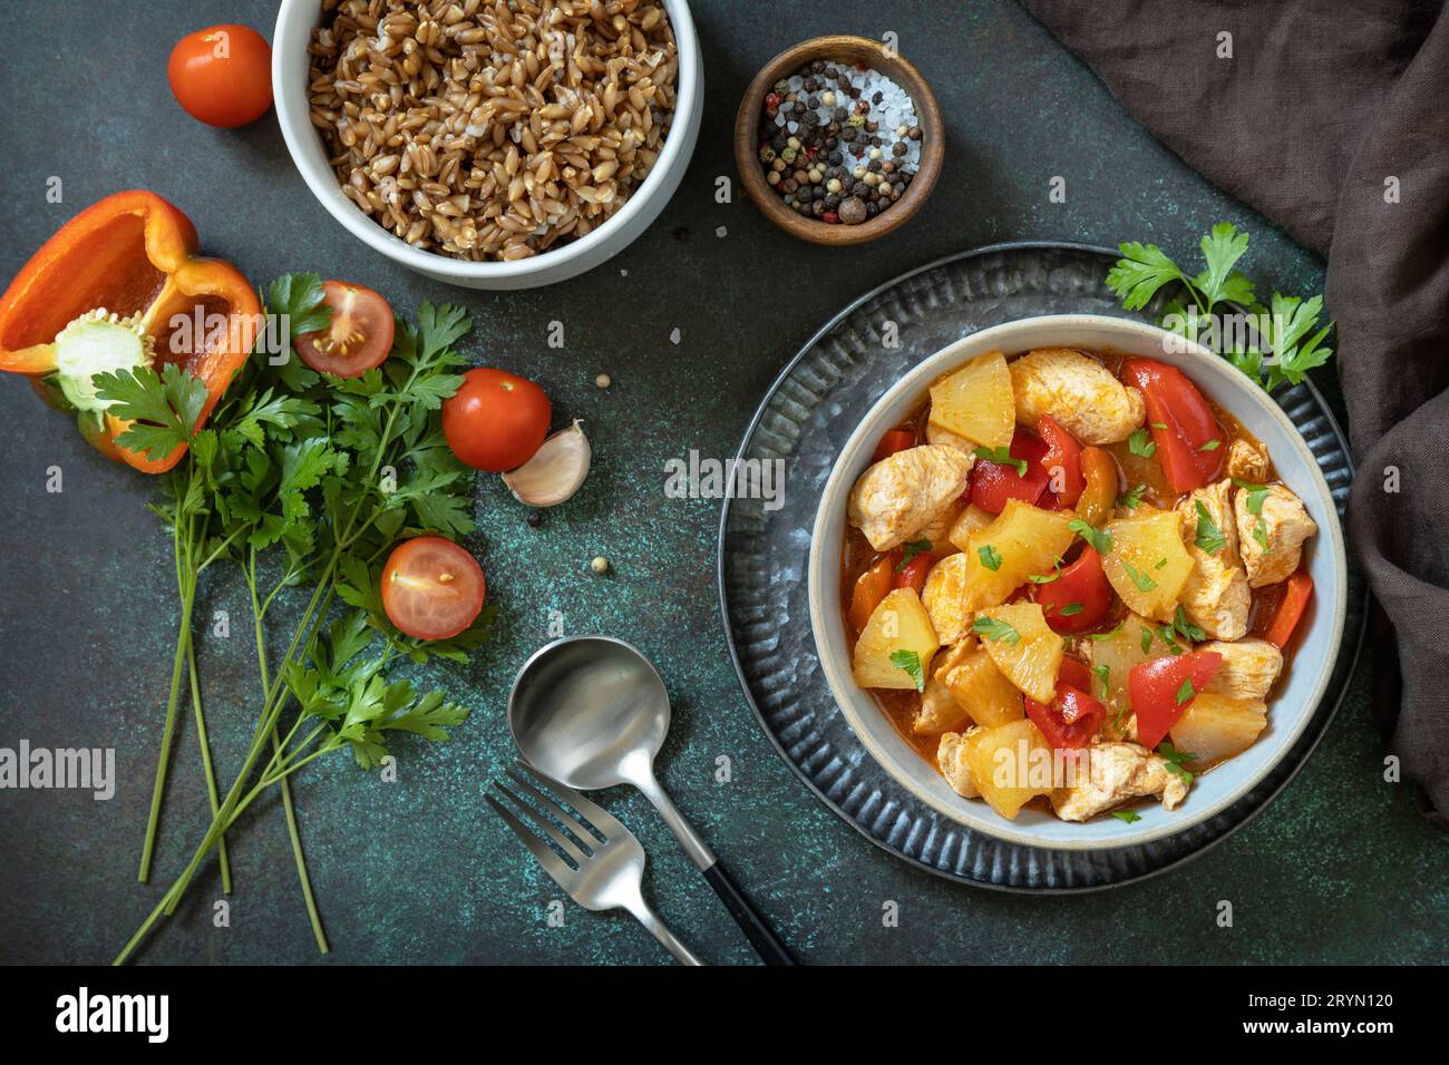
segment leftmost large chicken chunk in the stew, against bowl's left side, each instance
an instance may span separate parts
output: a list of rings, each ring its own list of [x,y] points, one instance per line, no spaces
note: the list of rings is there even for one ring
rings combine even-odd
[[[877,551],[890,551],[919,533],[966,490],[975,458],[945,443],[897,451],[851,490],[851,525]]]

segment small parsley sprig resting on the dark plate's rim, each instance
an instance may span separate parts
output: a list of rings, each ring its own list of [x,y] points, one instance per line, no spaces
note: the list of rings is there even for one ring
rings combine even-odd
[[[1275,291],[1268,306],[1259,303],[1253,281],[1236,268],[1248,251],[1248,233],[1239,233],[1230,222],[1219,222],[1198,246],[1207,265],[1190,275],[1155,243],[1120,243],[1123,258],[1107,271],[1107,287],[1124,310],[1142,310],[1159,290],[1175,287],[1181,294],[1162,306],[1158,325],[1220,351],[1266,391],[1284,383],[1301,384],[1310,369],[1332,358],[1333,349],[1323,346],[1323,341],[1333,323],[1319,327],[1321,296],[1304,300]],[[1249,327],[1224,335],[1214,309],[1223,314],[1239,307],[1253,316]]]

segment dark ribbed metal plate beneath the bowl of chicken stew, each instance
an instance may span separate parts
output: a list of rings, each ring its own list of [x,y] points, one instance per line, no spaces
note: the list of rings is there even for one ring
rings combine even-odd
[[[1201,853],[1293,780],[1337,711],[1364,638],[1365,585],[1350,559],[1343,643],[1329,694],[1303,736],[1253,791],[1217,817],[1139,846],[1052,851],[993,839],[924,806],[867,755],[830,696],[810,632],[810,532],[836,455],[891,384],[962,336],[1035,314],[1135,317],[1117,306],[1103,283],[1116,258],[1107,248],[1087,245],[993,245],[929,264],[867,293],[790,361],[740,443],[739,458],[784,459],[782,506],[765,510],[764,500],[726,500],[720,516],[724,630],[745,696],[765,733],[820,800],[867,839],[965,884],[1090,891],[1149,877]],[[882,342],[891,329],[898,346]],[[1317,458],[1342,516],[1353,467],[1327,403],[1311,383],[1279,390],[1274,398]]]

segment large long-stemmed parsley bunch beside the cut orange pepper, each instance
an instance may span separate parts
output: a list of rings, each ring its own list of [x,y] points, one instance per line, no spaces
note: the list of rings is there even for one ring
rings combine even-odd
[[[190,864],[117,956],[125,961],[162,914],[174,911],[213,846],[268,788],[283,795],[298,878],[319,949],[327,949],[301,853],[288,778],[309,762],[348,749],[362,768],[388,755],[396,736],[446,740],[467,710],[442,691],[414,691],[397,667],[432,656],[467,661],[488,635],[491,610],[451,640],[423,642],[393,627],[378,596],[378,571],[398,539],[423,532],[472,532],[472,471],[442,435],[442,401],[464,365],[454,345],[469,329],[461,307],[419,309],[397,322],[390,358],[358,378],[323,377],[291,358],[291,342],[325,327],[320,280],[285,275],[268,288],[268,313],[288,323],[281,352],[258,349],[204,429],[206,388],[175,367],[103,375],[97,391],[112,413],[136,419],[119,446],[170,454],[190,446],[168,475],[170,500],[154,506],[175,549],[181,630],[162,752],[152,794],[141,880],[146,880],[183,671],[190,672],[200,726],[212,823]],[[199,580],[230,564],[246,584],[256,645],[259,698],[252,740],[232,787],[216,788],[206,749],[191,607]],[[281,653],[268,648],[268,619],[284,593],[306,593]],[[275,627],[275,626],[271,626]],[[188,667],[188,669],[185,669]],[[290,714],[290,724],[285,717]]]

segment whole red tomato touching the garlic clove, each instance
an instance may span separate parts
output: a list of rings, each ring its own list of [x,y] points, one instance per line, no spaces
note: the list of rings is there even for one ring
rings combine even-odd
[[[462,462],[503,474],[533,458],[552,413],[548,396],[527,378],[481,367],[443,400],[443,436]]]

